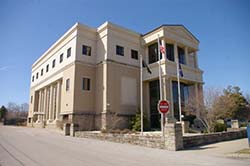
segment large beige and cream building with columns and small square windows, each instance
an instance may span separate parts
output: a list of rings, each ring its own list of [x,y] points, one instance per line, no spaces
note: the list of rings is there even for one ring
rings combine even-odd
[[[28,125],[77,123],[80,130],[128,127],[140,107],[142,55],[152,71],[143,69],[144,113],[150,127],[159,128],[158,36],[166,50],[160,60],[163,98],[170,101],[168,118],[179,120],[177,60],[183,71],[183,111],[190,98],[202,96],[196,37],[183,25],[162,25],[140,34],[105,22],[98,28],[76,23],[32,65]]]

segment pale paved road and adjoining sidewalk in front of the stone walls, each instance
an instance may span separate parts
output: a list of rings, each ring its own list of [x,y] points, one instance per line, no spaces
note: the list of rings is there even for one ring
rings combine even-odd
[[[247,148],[246,139],[224,143],[233,144],[232,150]],[[223,145],[217,145],[173,152],[63,136],[46,129],[0,126],[0,166],[250,165],[248,159],[223,156],[230,148],[223,152]]]

